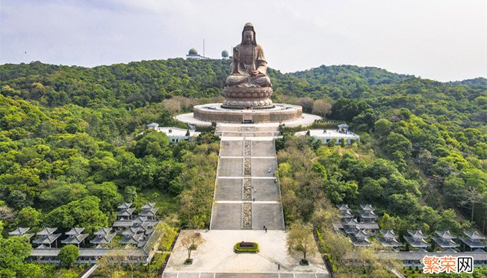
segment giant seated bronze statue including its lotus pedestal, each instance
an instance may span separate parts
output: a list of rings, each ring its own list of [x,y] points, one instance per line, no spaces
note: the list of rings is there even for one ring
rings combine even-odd
[[[267,76],[264,49],[255,42],[255,31],[249,22],[242,31],[241,43],[233,48],[230,76],[225,81],[223,108],[272,108],[272,85]]]

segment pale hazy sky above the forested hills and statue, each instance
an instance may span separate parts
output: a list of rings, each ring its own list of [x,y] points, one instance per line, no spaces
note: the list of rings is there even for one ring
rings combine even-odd
[[[218,58],[252,22],[269,66],[381,67],[438,81],[487,77],[486,0],[0,0],[0,64]],[[25,53],[26,52],[26,53]]]

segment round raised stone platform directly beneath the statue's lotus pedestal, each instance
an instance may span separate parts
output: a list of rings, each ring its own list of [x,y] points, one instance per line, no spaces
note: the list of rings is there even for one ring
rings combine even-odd
[[[193,115],[203,122],[262,123],[289,122],[301,118],[303,108],[291,104],[274,104],[266,109],[228,109],[222,104],[203,104],[193,107]]]

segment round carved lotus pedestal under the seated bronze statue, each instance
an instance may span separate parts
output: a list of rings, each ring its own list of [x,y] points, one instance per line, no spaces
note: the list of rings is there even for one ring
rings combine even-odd
[[[273,108],[272,87],[225,87],[225,101],[221,105],[226,109],[269,109]]]

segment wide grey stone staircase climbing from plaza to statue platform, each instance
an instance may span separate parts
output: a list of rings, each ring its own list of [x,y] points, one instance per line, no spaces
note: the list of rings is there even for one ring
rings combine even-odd
[[[222,136],[210,229],[283,230],[274,126],[217,126]],[[237,136],[237,137],[234,137]]]

